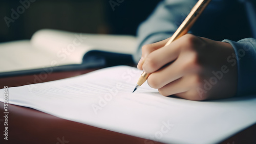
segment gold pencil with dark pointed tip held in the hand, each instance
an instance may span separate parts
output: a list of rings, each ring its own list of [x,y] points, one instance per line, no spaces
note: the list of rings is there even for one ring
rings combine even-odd
[[[191,9],[190,13],[187,15],[185,20],[181,23],[180,27],[177,29],[177,31],[173,34],[172,37],[168,40],[168,42],[165,44],[169,45],[174,40],[180,38],[181,36],[185,35],[189,29],[193,26],[193,24],[196,22],[197,18],[201,15],[203,10],[207,7],[207,5],[210,3],[211,0],[199,0],[197,4]],[[141,74],[133,92],[137,90],[150,76],[150,74],[146,74],[145,71]]]

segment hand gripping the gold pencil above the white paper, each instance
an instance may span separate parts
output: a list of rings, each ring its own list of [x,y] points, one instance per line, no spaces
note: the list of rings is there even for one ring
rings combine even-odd
[[[138,68],[151,74],[147,83],[164,95],[202,101],[236,94],[237,65],[229,43],[186,34],[167,46],[168,39],[142,47]]]

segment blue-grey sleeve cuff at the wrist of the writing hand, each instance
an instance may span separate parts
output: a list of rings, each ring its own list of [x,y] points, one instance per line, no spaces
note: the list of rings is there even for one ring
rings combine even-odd
[[[227,61],[238,68],[237,96],[256,94],[256,39],[245,38],[238,42],[225,39],[223,42],[230,43],[235,52]]]

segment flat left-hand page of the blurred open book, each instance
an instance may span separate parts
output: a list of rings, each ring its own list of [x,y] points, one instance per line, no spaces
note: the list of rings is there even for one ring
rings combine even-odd
[[[4,42],[0,44],[0,73],[55,66],[55,61],[62,65],[65,62],[55,55],[37,50],[30,40]]]

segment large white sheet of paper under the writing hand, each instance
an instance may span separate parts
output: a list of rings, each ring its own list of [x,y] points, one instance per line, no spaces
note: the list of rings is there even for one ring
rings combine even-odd
[[[163,97],[146,83],[132,93],[141,73],[116,66],[13,87],[9,103],[165,143],[218,143],[256,122],[256,97],[196,102]],[[3,102],[4,89],[0,95]]]

